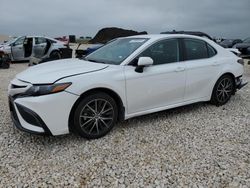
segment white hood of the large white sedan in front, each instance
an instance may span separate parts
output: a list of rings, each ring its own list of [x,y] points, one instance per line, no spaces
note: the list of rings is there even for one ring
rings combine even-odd
[[[32,84],[54,83],[62,78],[86,74],[107,68],[108,65],[79,59],[51,61],[28,68],[16,78]]]

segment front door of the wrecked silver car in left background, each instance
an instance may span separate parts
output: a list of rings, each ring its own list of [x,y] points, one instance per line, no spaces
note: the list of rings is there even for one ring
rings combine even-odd
[[[13,60],[22,60],[24,58],[24,40],[25,37],[21,37],[11,45],[11,55]]]

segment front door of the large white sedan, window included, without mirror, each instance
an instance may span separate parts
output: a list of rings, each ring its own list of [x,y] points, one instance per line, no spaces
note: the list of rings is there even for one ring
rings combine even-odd
[[[125,67],[128,114],[164,109],[181,103],[185,93],[185,64],[180,62],[178,39],[159,41],[139,57],[151,57],[152,66],[142,73],[135,66]],[[138,58],[136,58],[138,59]]]

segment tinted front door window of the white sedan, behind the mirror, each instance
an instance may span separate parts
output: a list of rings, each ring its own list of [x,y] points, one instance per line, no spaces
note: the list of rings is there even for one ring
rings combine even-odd
[[[178,39],[157,42],[141,53],[140,57],[151,57],[154,65],[179,61]]]

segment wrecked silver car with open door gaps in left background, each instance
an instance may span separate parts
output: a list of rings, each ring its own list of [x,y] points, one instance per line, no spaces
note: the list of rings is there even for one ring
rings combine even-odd
[[[61,41],[42,36],[22,36],[6,44],[0,50],[9,54],[12,61],[28,61],[30,57],[60,59],[60,48],[66,48]]]

